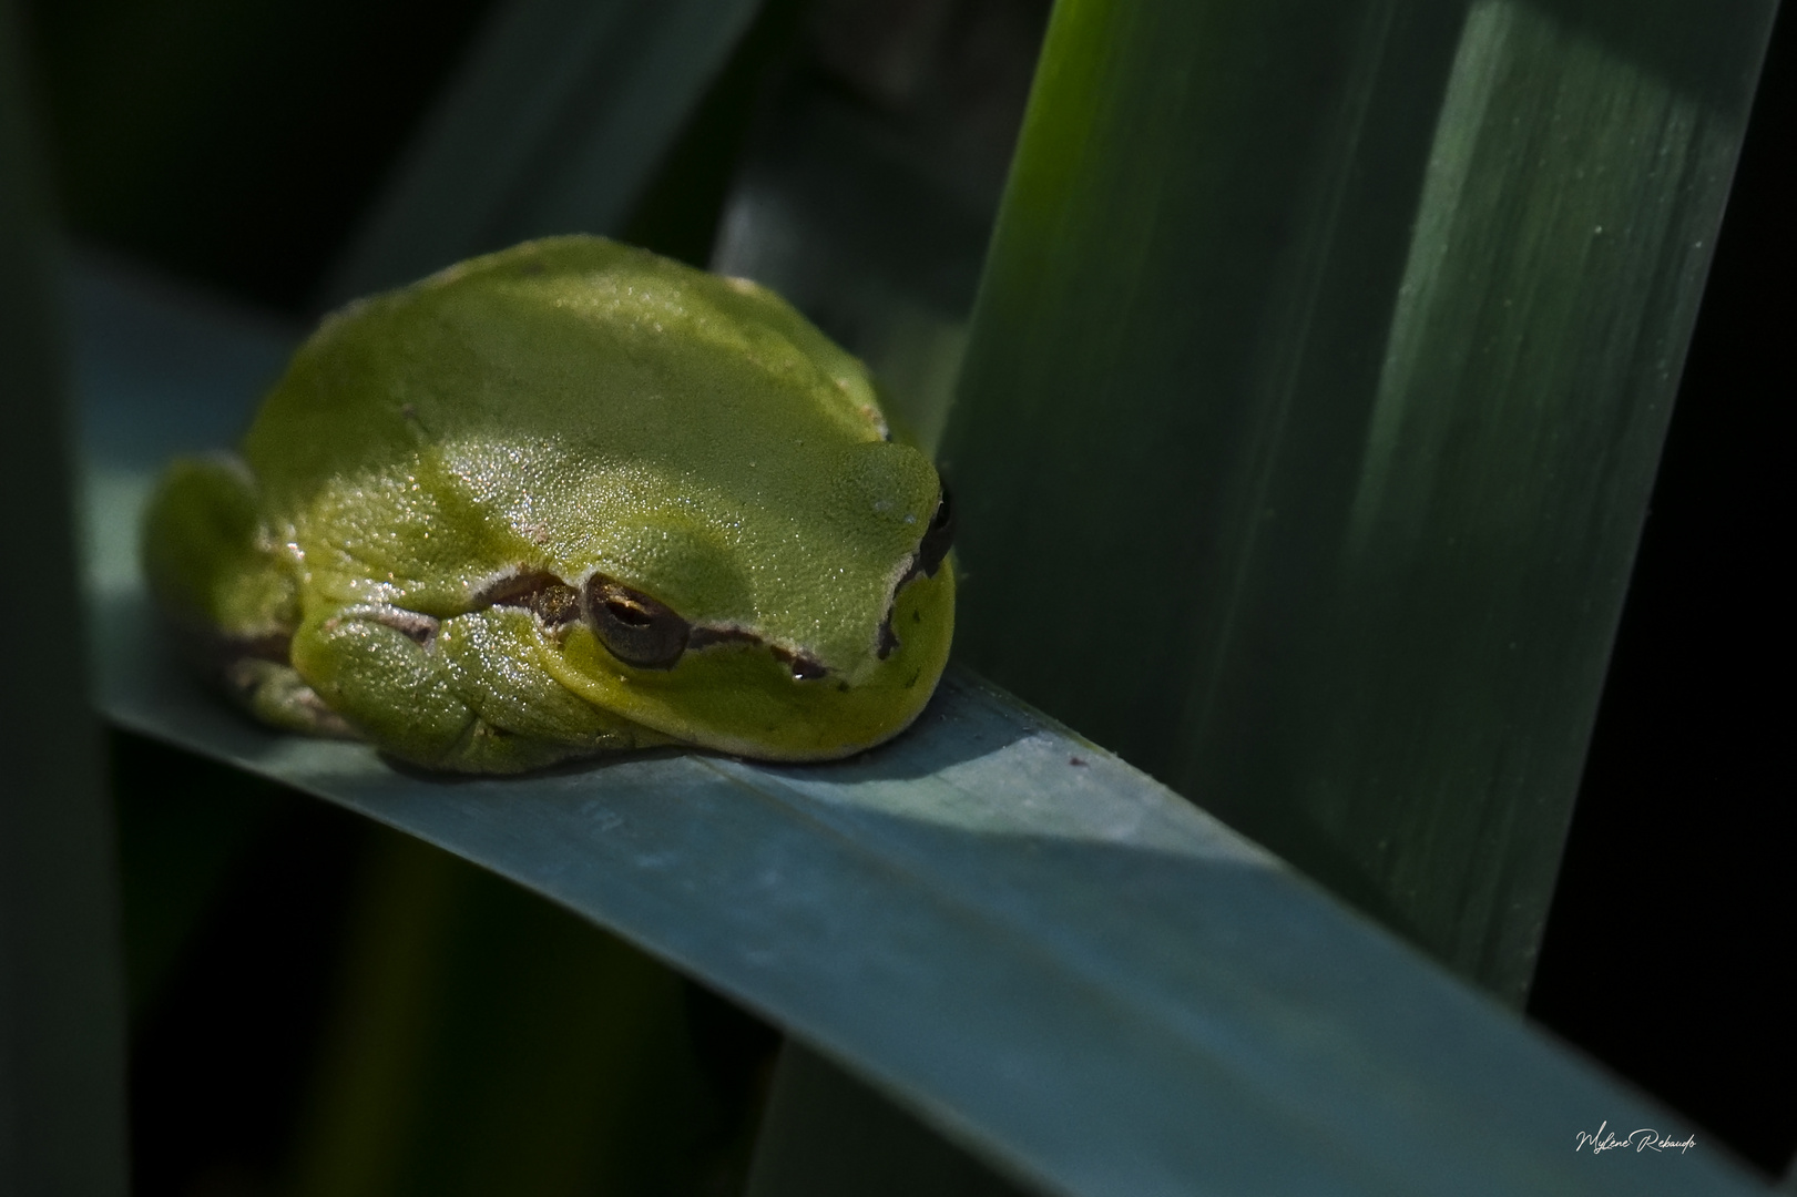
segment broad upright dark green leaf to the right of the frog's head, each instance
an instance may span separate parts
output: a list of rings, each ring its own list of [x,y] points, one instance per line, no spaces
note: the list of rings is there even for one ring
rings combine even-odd
[[[1062,0],[961,660],[1522,1001],[1772,0]]]

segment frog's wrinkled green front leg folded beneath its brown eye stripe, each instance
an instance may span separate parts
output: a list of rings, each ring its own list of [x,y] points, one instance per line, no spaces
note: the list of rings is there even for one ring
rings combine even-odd
[[[597,710],[543,670],[537,654],[550,634],[518,607],[438,620],[361,604],[305,620],[291,660],[368,740],[435,769],[519,773],[667,742]]]

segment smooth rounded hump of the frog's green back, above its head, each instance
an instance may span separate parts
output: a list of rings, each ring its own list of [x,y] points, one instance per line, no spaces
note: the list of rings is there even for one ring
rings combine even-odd
[[[659,462],[737,491],[766,489],[767,474],[748,471],[794,439],[884,435],[866,368],[771,291],[553,237],[329,316],[264,403],[244,458],[279,514],[332,480],[455,444]]]

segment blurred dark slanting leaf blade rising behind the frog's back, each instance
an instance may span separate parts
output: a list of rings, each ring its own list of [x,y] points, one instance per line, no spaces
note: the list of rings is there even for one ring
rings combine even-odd
[[[507,0],[325,300],[548,234],[618,234],[758,0]]]

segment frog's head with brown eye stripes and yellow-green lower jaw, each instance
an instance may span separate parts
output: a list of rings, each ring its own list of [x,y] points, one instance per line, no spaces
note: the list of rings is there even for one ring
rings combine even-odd
[[[762,462],[789,476],[751,501],[692,478],[654,501],[638,478],[636,503],[607,505],[631,518],[568,572],[550,672],[633,723],[749,757],[845,757],[904,730],[954,629],[949,496],[909,446],[854,446],[834,466],[800,478]]]

